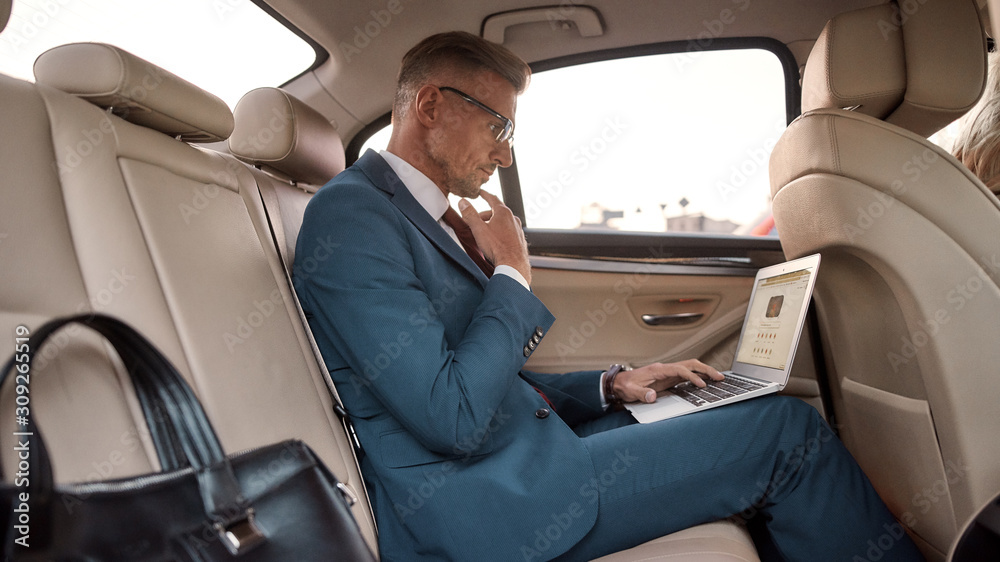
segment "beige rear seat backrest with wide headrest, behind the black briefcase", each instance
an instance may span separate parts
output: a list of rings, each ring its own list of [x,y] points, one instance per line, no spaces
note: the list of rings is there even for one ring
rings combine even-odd
[[[227,137],[228,107],[107,45],[53,49],[36,76],[37,85],[0,76],[0,131],[19,139],[0,152],[0,261],[17,272],[0,289],[0,330],[81,311],[122,318],[177,365],[227,452],[302,439],[360,492],[251,171],[172,138]],[[95,341],[57,342],[32,381],[62,482],[155,464],[122,373]],[[374,549],[367,503],[354,513]]]

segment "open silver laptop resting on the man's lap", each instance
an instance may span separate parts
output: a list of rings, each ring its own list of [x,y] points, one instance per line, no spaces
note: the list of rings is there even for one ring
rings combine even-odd
[[[813,254],[758,271],[733,366],[722,372],[725,380],[706,380],[706,388],[685,382],[661,392],[652,404],[627,404],[635,419],[665,420],[784,388],[818,269],[819,254]]]

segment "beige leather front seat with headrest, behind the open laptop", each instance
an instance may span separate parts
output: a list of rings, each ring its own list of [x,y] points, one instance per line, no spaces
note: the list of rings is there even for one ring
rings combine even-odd
[[[841,14],[770,162],[786,256],[823,255],[835,423],[932,560],[1000,491],[1000,202],[925,138],[985,68],[972,0]]]

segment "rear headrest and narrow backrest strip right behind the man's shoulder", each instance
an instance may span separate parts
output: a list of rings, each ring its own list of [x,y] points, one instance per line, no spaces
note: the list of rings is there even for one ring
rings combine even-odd
[[[275,223],[275,236],[291,271],[295,241],[306,204],[344,171],[340,134],[319,112],[279,88],[258,88],[236,104],[229,150],[267,172],[261,195]]]

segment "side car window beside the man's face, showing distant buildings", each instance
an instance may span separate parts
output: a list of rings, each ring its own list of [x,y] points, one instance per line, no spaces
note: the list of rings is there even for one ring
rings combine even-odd
[[[784,76],[763,49],[535,73],[515,135],[526,226],[772,231],[767,167],[786,125]]]

